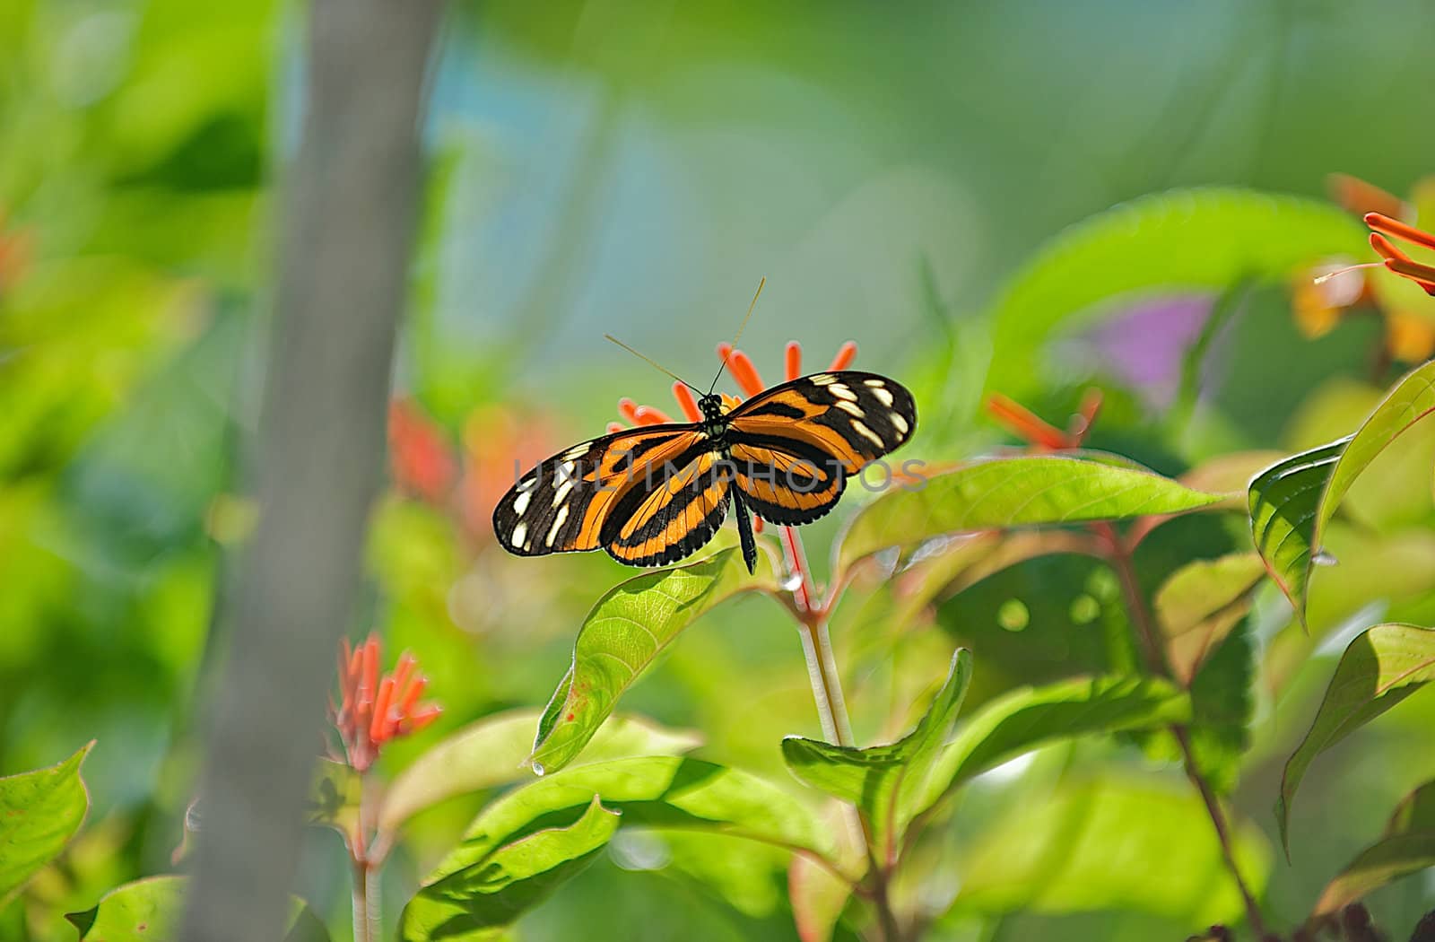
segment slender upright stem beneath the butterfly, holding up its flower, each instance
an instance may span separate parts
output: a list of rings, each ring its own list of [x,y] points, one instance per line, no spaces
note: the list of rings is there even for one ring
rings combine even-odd
[[[781,541],[788,567],[799,577],[798,586],[792,590],[796,602],[792,610],[798,620],[798,635],[802,638],[802,653],[806,658],[812,702],[817,705],[818,719],[822,724],[822,735],[837,745],[854,747],[852,721],[847,715],[847,699],[842,696],[842,678],[837,668],[837,658],[832,655],[832,638],[827,630],[828,616],[837,603],[837,593],[834,592],[821,603],[815,602],[818,593],[812,583],[812,572],[802,547],[802,537],[792,527],[782,527]],[[881,938],[884,942],[901,942],[901,926],[893,912],[887,890],[888,867],[877,856],[870,823],[857,806],[848,807],[855,823],[852,827],[854,839],[868,859],[871,899],[877,909]]]

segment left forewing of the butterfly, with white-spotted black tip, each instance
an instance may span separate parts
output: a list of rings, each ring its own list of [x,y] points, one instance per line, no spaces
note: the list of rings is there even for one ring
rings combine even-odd
[[[643,425],[561,451],[498,501],[498,543],[515,556],[596,550],[621,514],[636,511],[624,503],[634,488],[646,491],[692,464],[706,441],[696,425]]]

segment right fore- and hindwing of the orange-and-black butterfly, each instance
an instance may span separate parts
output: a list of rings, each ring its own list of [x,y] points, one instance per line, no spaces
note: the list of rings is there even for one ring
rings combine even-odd
[[[907,441],[917,405],[901,383],[842,370],[766,389],[728,421],[746,503],[765,520],[798,524],[832,510],[848,477]]]

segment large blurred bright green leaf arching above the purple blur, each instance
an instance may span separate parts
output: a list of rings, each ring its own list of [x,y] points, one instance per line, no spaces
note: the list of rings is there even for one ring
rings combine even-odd
[[[990,314],[987,388],[1036,388],[1053,333],[1091,326],[1131,297],[1283,281],[1319,258],[1366,251],[1365,228],[1325,201],[1201,188],[1124,202],[1056,236],[1012,276]]]

